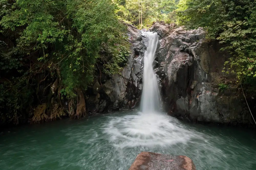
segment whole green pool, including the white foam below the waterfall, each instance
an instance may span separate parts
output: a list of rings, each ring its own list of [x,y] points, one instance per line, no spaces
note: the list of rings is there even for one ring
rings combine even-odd
[[[1,132],[1,131],[0,131]],[[129,169],[142,151],[186,155],[198,170],[256,169],[253,130],[119,112],[4,130],[0,169]]]

